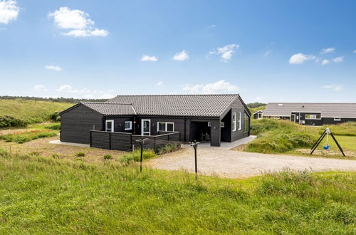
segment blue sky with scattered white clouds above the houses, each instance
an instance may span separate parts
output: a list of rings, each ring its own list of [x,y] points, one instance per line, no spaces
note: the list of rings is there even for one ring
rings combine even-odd
[[[0,95],[356,102],[356,1],[0,0]]]

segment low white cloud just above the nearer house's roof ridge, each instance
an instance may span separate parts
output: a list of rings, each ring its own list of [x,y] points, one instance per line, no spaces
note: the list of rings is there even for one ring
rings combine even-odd
[[[197,85],[185,85],[184,91],[188,93],[199,94],[216,94],[216,93],[234,93],[239,90],[239,87],[232,85],[225,80],[218,80],[215,83],[197,84]]]

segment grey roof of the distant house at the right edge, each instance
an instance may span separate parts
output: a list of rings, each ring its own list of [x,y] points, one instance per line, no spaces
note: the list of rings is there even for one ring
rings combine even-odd
[[[356,118],[356,103],[268,103],[263,116],[290,116],[293,111],[321,113],[322,117]]]

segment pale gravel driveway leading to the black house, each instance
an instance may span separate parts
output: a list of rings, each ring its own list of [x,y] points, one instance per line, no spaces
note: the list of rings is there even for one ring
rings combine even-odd
[[[194,172],[194,150],[183,148],[147,162],[150,167],[167,170]],[[265,155],[254,152],[219,150],[198,147],[198,171],[200,174],[220,177],[251,177],[268,171],[290,169],[312,169],[313,171],[340,170],[356,171],[355,160],[336,160],[287,155]]]

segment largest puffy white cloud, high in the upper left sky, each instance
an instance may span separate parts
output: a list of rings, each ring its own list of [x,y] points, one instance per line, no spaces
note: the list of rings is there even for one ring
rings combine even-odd
[[[89,36],[108,36],[109,32],[105,29],[93,28],[95,22],[89,19],[89,14],[80,10],[71,10],[66,6],[59,10],[50,12],[48,16],[53,17],[54,22],[59,28],[70,29],[65,36],[89,37]]]

